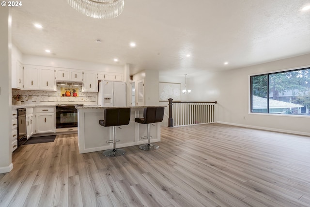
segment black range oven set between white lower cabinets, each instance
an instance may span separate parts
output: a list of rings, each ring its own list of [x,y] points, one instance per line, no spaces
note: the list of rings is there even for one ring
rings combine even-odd
[[[56,128],[78,127],[78,110],[83,104],[56,105]]]

